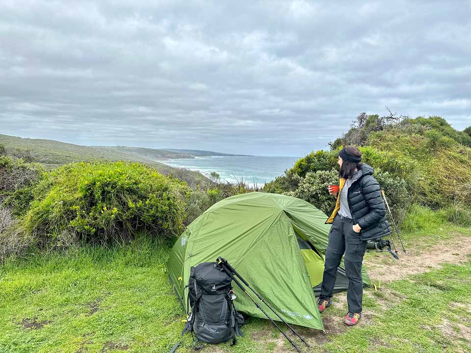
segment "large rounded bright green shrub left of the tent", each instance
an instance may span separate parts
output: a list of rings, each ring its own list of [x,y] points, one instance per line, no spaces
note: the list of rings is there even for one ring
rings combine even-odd
[[[122,241],[136,230],[171,237],[183,229],[189,192],[183,182],[138,163],[72,163],[40,180],[21,225],[52,246],[74,236]]]

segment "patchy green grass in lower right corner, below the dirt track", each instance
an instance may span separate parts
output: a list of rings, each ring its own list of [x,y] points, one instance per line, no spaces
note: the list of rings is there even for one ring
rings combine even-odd
[[[470,342],[452,336],[440,325],[444,319],[471,327],[471,262],[443,268],[389,283],[399,303],[372,296],[366,309],[373,312],[369,325],[348,329],[327,343],[329,352],[469,352]],[[372,290],[366,293],[372,293]],[[380,292],[381,293],[381,292]],[[378,299],[376,299],[378,298]]]

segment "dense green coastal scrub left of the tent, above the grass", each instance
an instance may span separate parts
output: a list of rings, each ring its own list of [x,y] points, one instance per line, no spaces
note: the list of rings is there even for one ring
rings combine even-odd
[[[45,171],[0,157],[0,261],[27,248],[124,243],[138,231],[162,241],[179,235],[212,204],[247,185],[163,176],[138,163],[79,162]],[[186,178],[188,179],[188,178]]]

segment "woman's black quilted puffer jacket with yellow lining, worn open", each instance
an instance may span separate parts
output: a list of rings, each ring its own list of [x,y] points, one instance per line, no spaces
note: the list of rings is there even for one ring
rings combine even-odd
[[[360,164],[362,175],[348,188],[348,206],[354,224],[362,227],[362,240],[376,239],[391,234],[391,226],[386,220],[386,209],[381,195],[381,188],[373,177],[373,168]],[[340,195],[338,196],[340,197]],[[333,219],[338,209],[329,218]],[[326,223],[331,223],[327,220]]]

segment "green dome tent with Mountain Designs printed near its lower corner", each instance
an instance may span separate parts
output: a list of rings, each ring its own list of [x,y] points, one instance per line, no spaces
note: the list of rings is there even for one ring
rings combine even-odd
[[[188,226],[168,260],[183,307],[190,267],[222,256],[288,323],[323,329],[314,294],[331,227],[326,219],[312,204],[278,194],[252,192],[212,205]],[[363,278],[368,284],[365,272]],[[347,287],[342,261],[334,290]],[[237,310],[264,318],[237,286],[235,293]]]

